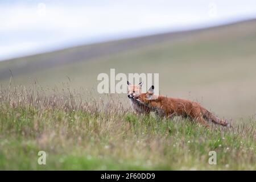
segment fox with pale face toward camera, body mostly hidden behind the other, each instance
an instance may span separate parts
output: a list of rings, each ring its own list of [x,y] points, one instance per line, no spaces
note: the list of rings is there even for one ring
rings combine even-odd
[[[131,106],[133,107],[135,113],[137,114],[150,113],[150,108],[148,108],[146,105],[134,99],[135,96],[138,96],[139,94],[141,94],[142,82],[140,82],[138,85],[131,85],[130,82],[127,81],[127,85],[128,85],[128,98],[130,99]]]

